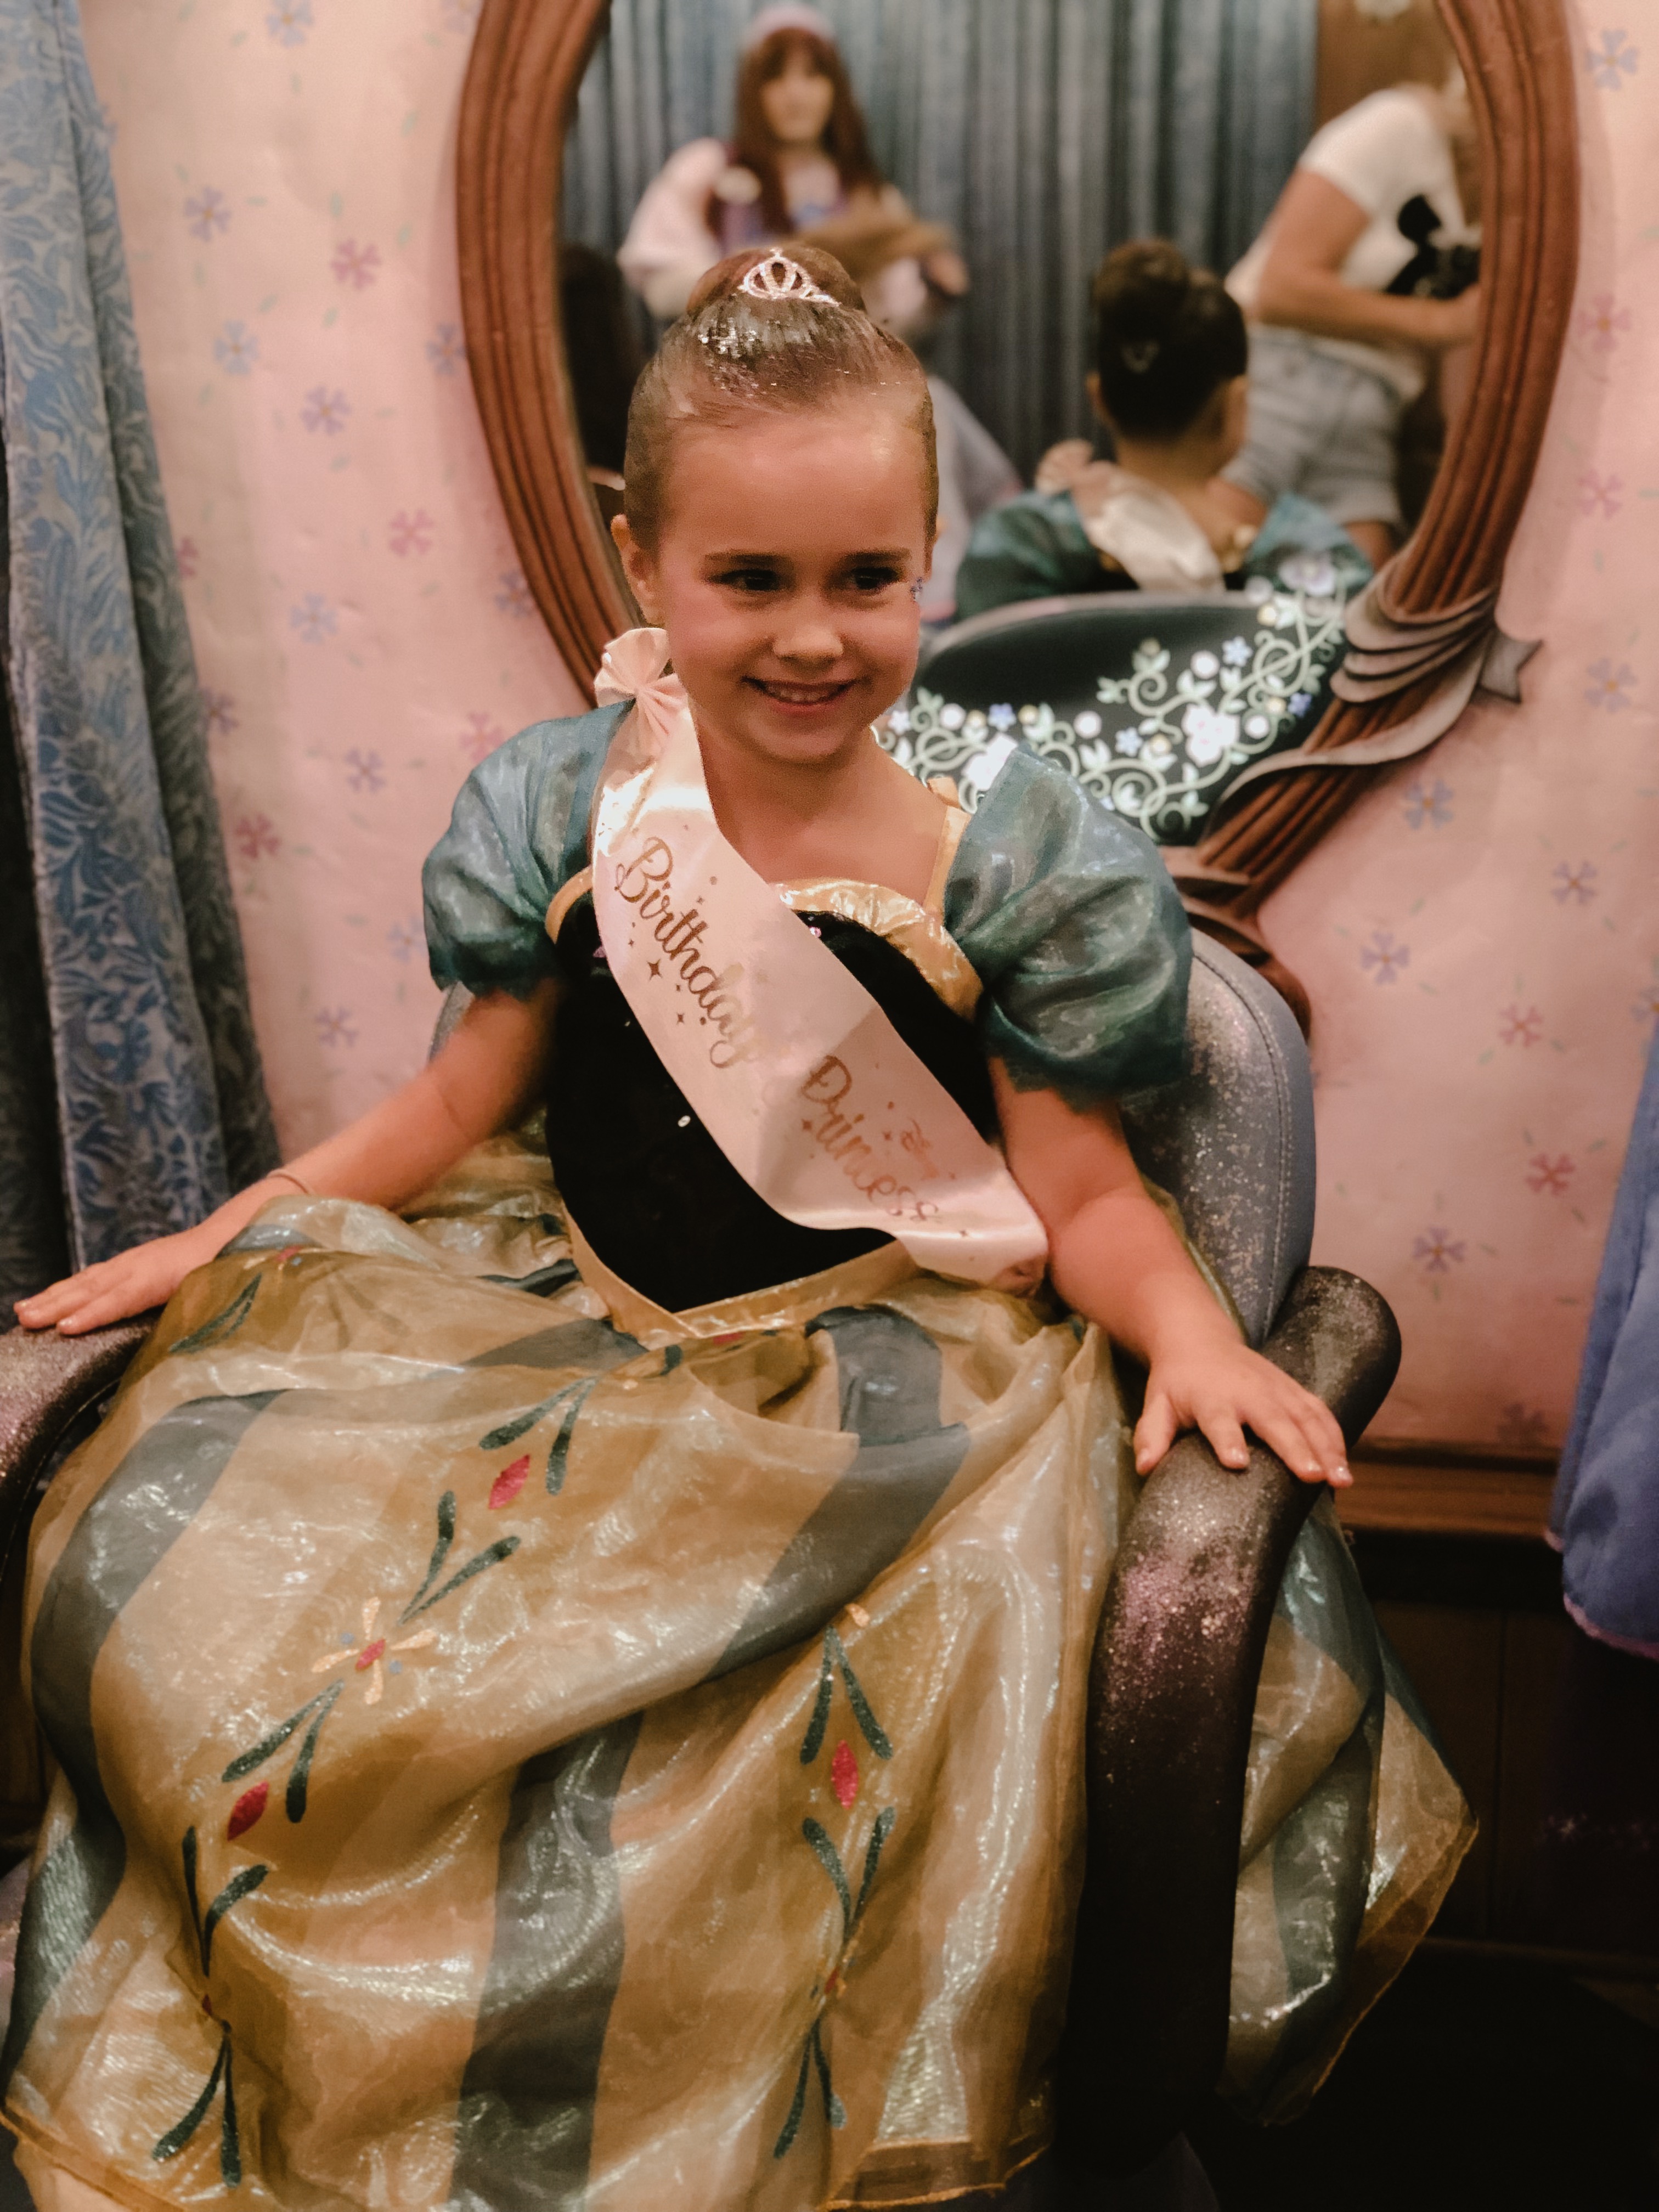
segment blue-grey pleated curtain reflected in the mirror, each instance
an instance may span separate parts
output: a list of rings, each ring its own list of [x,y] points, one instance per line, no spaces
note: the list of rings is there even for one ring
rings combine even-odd
[[[1124,239],[1225,270],[1314,128],[1318,0],[823,0],[876,159],[951,223],[973,296],[929,365],[1022,471],[1091,429],[1088,274]],[[732,126],[752,0],[615,0],[564,237],[615,252],[650,177]]]

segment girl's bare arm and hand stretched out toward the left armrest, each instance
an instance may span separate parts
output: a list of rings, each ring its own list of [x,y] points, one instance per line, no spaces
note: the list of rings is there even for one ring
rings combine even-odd
[[[414,1082],[294,1159],[292,1175],[319,1197],[403,1206],[535,1102],[553,1044],[555,1000],[553,982],[538,984],[526,1000],[507,991],[473,1000],[453,1037]],[[252,1183],[192,1230],[157,1237],[82,1267],[35,1298],[20,1298],[18,1321],[24,1329],[58,1327],[64,1336],[82,1336],[164,1305],[192,1267],[292,1188],[270,1179]]]

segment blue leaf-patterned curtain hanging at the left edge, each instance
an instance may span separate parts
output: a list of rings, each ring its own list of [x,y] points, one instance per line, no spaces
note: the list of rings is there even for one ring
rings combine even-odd
[[[276,1159],[75,0],[0,0],[0,427],[11,1301]]]

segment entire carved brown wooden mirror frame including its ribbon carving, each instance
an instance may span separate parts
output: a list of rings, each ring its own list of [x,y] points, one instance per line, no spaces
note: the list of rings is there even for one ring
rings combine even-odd
[[[1486,206],[1475,400],[1422,522],[1349,611],[1338,703],[1245,776],[1179,858],[1188,905],[1261,958],[1252,916],[1383,763],[1433,743],[1528,646],[1498,586],[1544,436],[1577,268],[1575,60],[1562,0],[1440,0],[1469,77]],[[630,608],[588,489],[555,285],[564,133],[608,0],[484,0],[460,108],[460,281],[473,389],[524,577],[577,681]],[[1312,763],[1312,765],[1303,765]]]

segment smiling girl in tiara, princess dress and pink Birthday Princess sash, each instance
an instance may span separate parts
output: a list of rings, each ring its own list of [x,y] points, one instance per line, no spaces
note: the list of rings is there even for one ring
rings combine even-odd
[[[1347,1473],[1124,1148],[1113,1095],[1181,1068],[1157,854],[1031,754],[969,821],[869,732],[931,531],[907,349],[827,257],[717,268],[633,405],[653,628],[427,865],[458,1031],[24,1310],[170,1301],[31,1562],[40,2203],[805,2212],[1042,2150],[1133,1502],[1106,1336],[1141,1471],[1197,1422]],[[498,1135],[538,1102],[557,1190]],[[1420,1924],[1462,1836],[1374,1630],[1321,1648],[1363,1601],[1310,1528],[1241,2088],[1336,2046],[1321,1931]],[[1376,1847],[1310,1851],[1356,1774]]]

